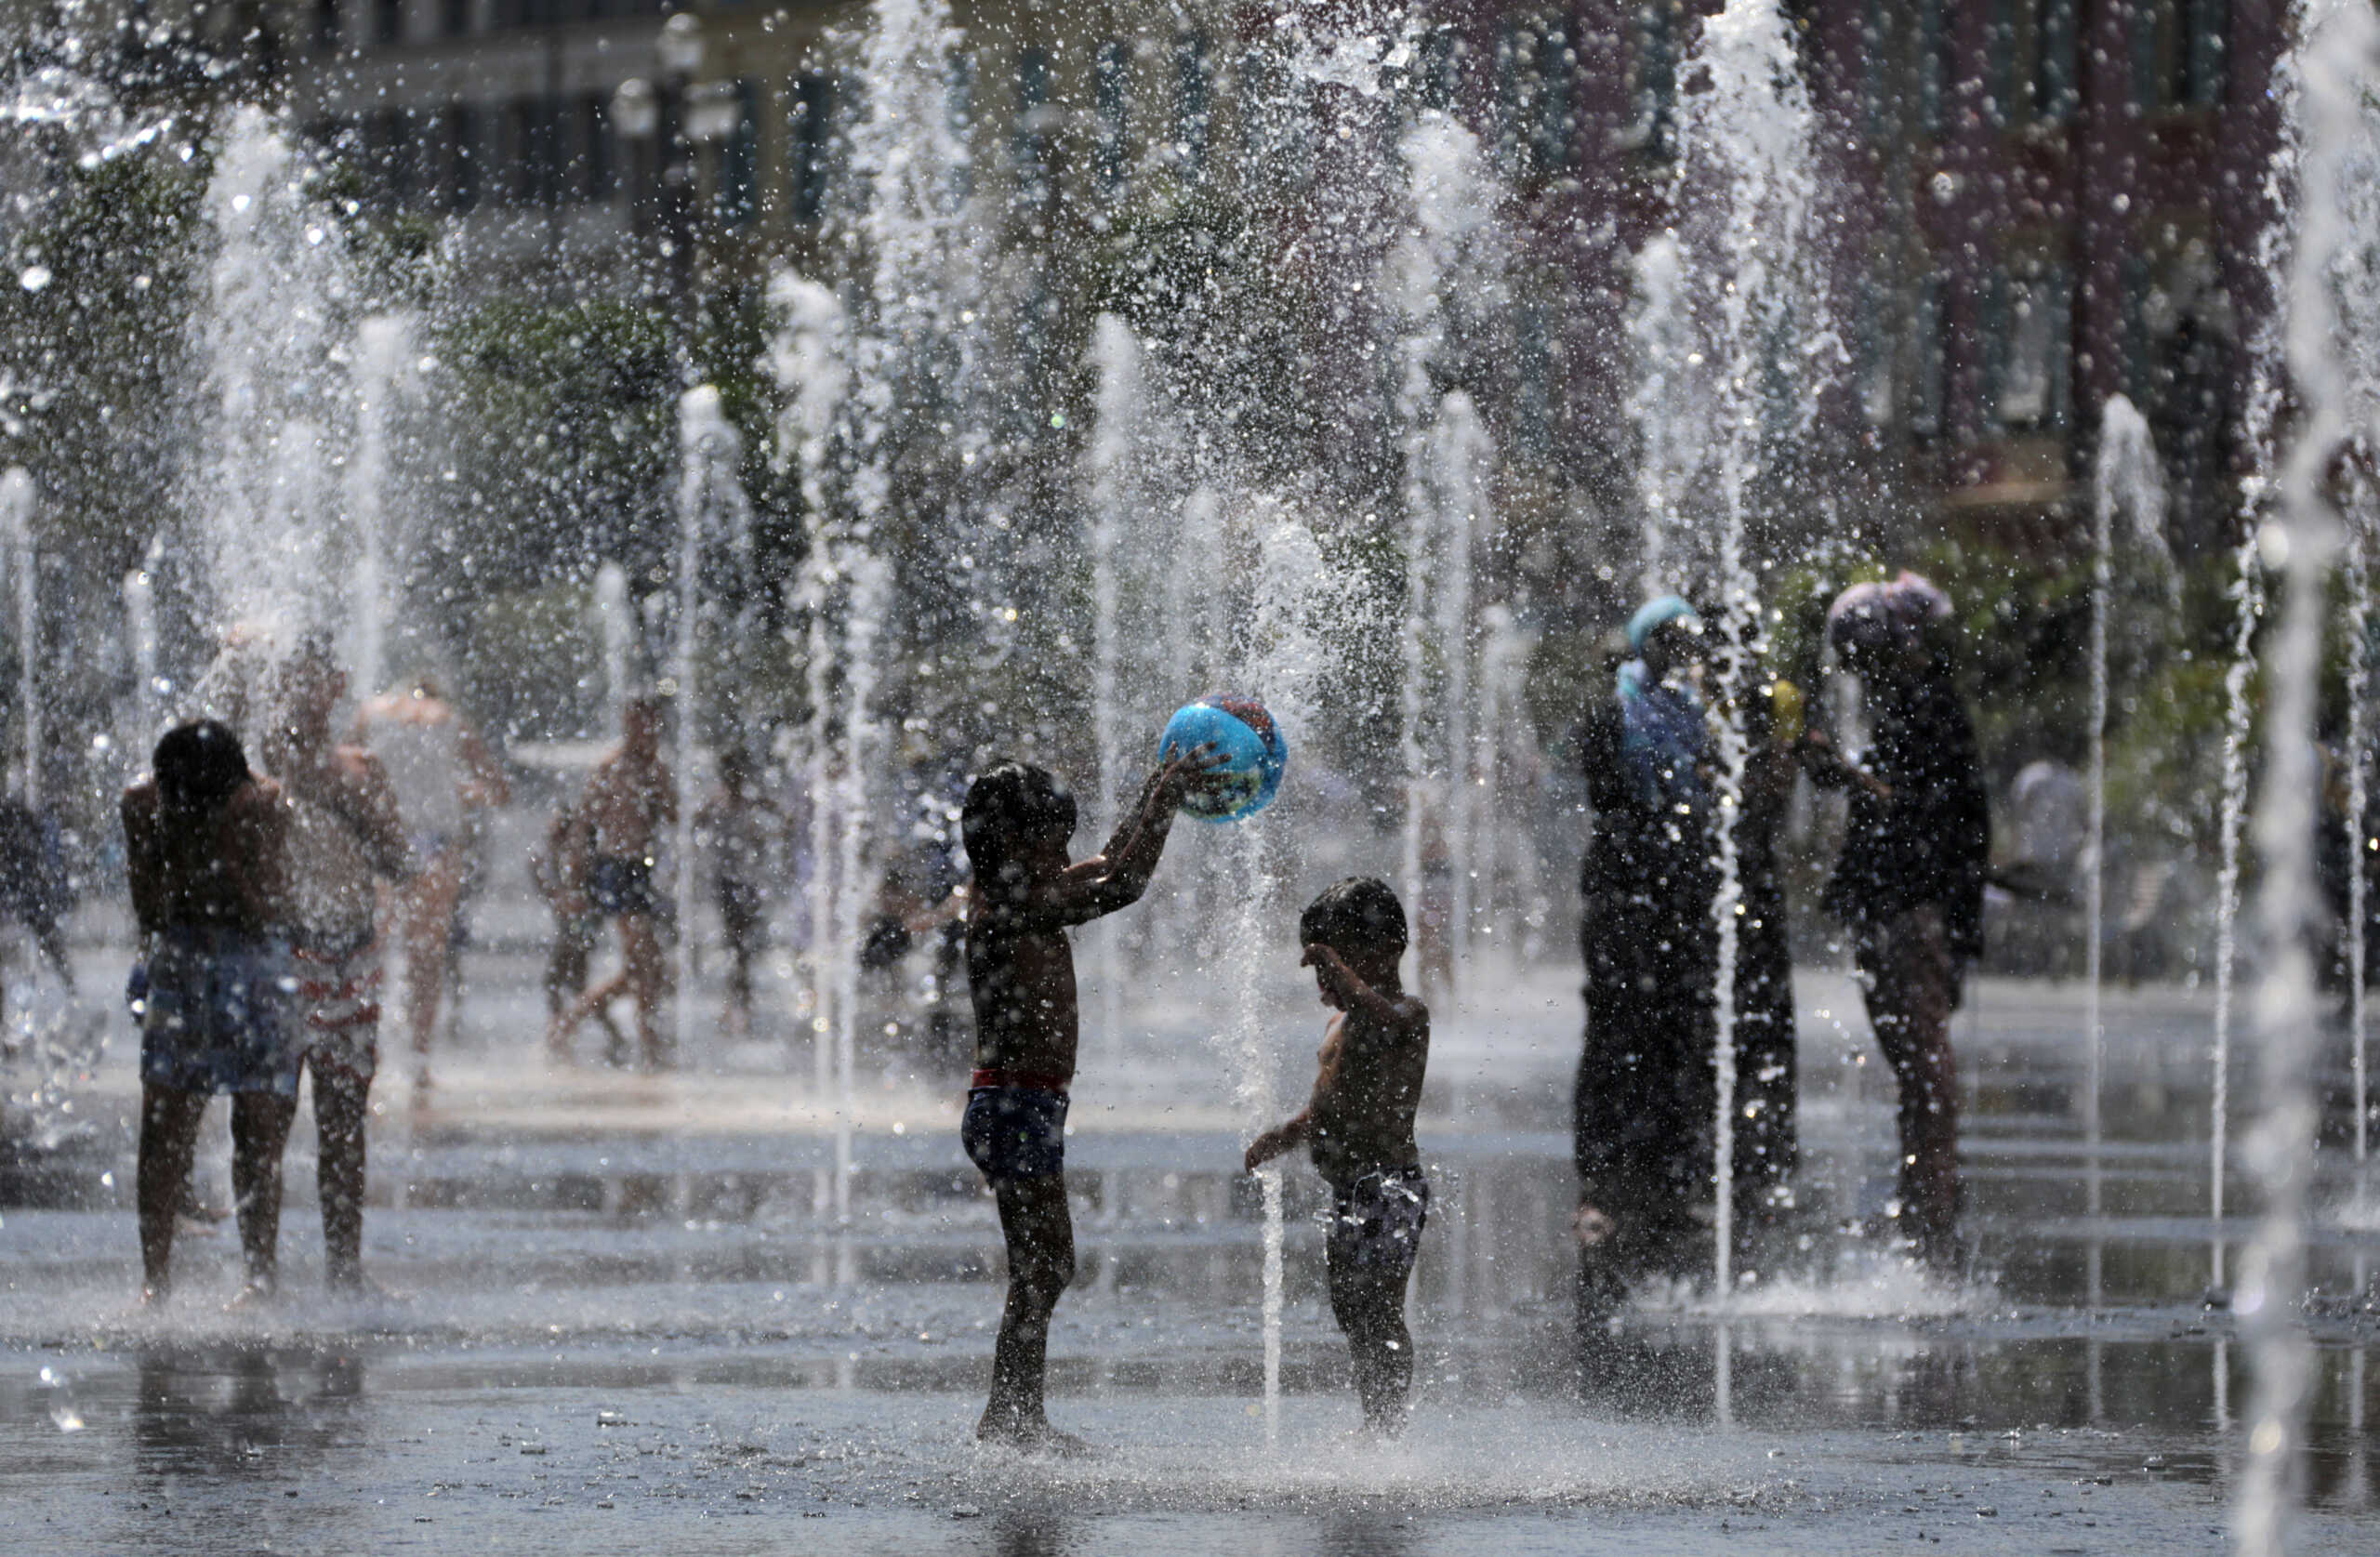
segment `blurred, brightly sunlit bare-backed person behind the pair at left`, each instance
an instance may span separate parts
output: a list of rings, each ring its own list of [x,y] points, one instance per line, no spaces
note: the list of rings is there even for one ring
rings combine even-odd
[[[447,986],[455,914],[471,869],[471,812],[512,798],[478,731],[438,695],[431,676],[374,698],[355,717],[364,745],[397,790],[421,871],[400,895],[405,948],[405,1024],[414,1040],[414,1102],[431,1090],[431,1040]]]

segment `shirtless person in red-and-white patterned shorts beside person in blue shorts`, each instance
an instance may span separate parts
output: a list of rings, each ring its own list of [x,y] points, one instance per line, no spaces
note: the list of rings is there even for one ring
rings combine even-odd
[[[412,876],[397,795],[359,745],[331,738],[347,693],[328,643],[307,638],[281,674],[264,764],[290,802],[290,898],[302,1026],[312,1040],[324,1276],[364,1283],[364,1126],[381,1064],[378,883]]]

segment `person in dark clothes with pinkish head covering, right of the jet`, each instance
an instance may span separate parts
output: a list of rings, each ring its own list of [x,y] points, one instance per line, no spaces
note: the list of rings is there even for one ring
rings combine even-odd
[[[1975,726],[1959,702],[1949,598],[1904,571],[1854,583],[1828,640],[1866,688],[1875,738],[1859,762],[1802,740],[1816,783],[1847,786],[1852,814],[1823,905],[1854,940],[1875,1043],[1899,1086],[1899,1214],[1925,1264],[1959,1267],[1959,1064],[1949,1014],[1983,952],[1992,812]]]

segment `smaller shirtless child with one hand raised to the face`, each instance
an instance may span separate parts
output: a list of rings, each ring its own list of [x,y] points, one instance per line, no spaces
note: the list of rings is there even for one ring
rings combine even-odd
[[[1430,1064],[1430,1007],[1397,981],[1404,907],[1385,881],[1340,881],[1297,919],[1321,1000],[1338,1017],[1304,1112],[1257,1136],[1247,1171],[1304,1143],[1330,1186],[1330,1312],[1347,1331],[1364,1426],[1404,1428],[1414,1386],[1414,1338],[1404,1283],[1414,1274],[1430,1181],[1421,1176],[1414,1109]]]

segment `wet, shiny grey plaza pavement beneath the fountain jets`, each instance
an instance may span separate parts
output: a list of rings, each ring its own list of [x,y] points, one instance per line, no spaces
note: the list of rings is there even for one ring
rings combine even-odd
[[[1066,1426],[1107,1445],[1085,1464],[966,1438],[1000,1250],[940,1090],[888,1076],[857,1212],[835,1226],[819,1209],[831,1138],[704,1102],[752,1090],[750,1074],[654,1093],[490,1055],[438,1114],[376,1136],[386,1205],[367,1259],[402,1298],[307,1295],[302,1150],[293,1298],[264,1314],[202,1293],[169,1319],[131,1312],[119,1155],[19,1174],[19,1209],[0,1212],[0,1524],[60,1552],[576,1550],[600,1521],[704,1550],[826,1547],[823,1528],[828,1550],[888,1552],[1716,1550],[1754,1531],[1759,1550],[1828,1555],[1918,1536],[2223,1545],[2249,1376],[2206,1300],[2202,1002],[2111,1002],[2104,1209],[2087,1217],[2080,1000],[1980,990],[1961,1062],[1983,1278],[1942,1288],[1873,1231],[1890,1081],[1856,998],[1806,978],[1806,1162],[1759,1278],[1726,1312],[1647,1290],[1580,1331],[1564,995],[1521,990],[1440,1045],[1423,1119],[1440,1200],[1414,1286],[1423,1400],[1402,1445],[1352,1436],[1311,1221],[1290,1231],[1288,1412],[1264,1443],[1259,1212],[1228,1171],[1238,1131],[1195,1033],[1152,1033],[1142,1064],[1088,1076],[1078,1102],[1083,1269],[1052,1390]],[[562,1086],[612,1112],[557,1100]],[[1292,1186],[1292,1214],[1311,1212],[1316,1186]],[[2351,1195],[2332,1152],[2306,1457],[2328,1547],[2309,1550],[2380,1547],[2380,1217]],[[2251,1186],[2230,1202],[2251,1214]],[[188,1243],[195,1286],[226,1283],[228,1233]],[[833,1524],[781,1528],[793,1517]],[[700,1538],[681,1528],[695,1519]]]

